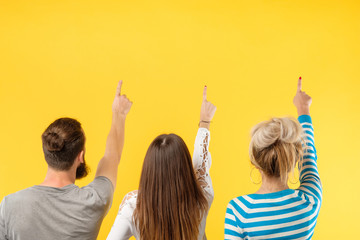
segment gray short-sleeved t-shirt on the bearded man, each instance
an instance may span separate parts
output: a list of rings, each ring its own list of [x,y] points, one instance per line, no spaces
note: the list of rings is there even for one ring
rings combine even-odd
[[[10,194],[0,204],[0,240],[96,239],[113,194],[103,176],[82,188],[36,185]]]

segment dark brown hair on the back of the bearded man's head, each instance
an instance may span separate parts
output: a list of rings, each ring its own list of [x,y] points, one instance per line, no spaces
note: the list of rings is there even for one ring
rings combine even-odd
[[[46,162],[59,171],[69,170],[85,145],[81,124],[72,118],[57,119],[41,138]]]

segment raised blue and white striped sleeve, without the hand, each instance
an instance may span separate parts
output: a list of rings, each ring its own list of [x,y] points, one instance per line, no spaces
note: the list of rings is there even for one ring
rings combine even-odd
[[[309,115],[298,118],[304,133],[304,155],[299,162],[300,187],[299,190],[313,196],[316,200],[322,200],[322,185],[317,168],[317,155],[314,140],[314,128]]]

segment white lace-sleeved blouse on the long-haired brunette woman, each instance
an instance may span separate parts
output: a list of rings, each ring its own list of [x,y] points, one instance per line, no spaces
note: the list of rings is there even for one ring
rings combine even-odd
[[[210,131],[206,128],[199,128],[195,139],[195,148],[193,154],[193,166],[196,174],[196,178],[200,183],[200,186],[205,192],[205,196],[208,199],[209,209],[214,199],[214,189],[212,186],[209,170],[211,167],[211,155],[209,152]],[[116,216],[114,225],[107,237],[107,240],[127,240],[134,236],[136,239],[140,239],[139,232],[135,227],[133,221],[133,213],[136,208],[137,190],[129,192],[124,197],[119,207],[118,215]],[[205,239],[205,225],[206,212],[201,220],[199,226],[198,240]]]

